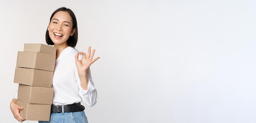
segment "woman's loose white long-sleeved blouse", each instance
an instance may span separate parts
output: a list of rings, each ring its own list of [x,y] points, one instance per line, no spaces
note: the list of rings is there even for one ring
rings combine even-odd
[[[64,49],[56,59],[52,88],[54,88],[54,105],[68,105],[84,101],[88,106],[94,106],[97,102],[98,93],[92,81],[90,68],[87,70],[89,78],[88,90],[81,87],[78,76],[75,55],[79,51],[73,47]],[[79,55],[81,60],[82,55]],[[14,95],[17,98],[18,91]]]

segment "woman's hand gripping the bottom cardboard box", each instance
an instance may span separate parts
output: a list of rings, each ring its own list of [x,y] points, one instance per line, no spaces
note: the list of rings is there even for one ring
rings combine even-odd
[[[23,110],[23,107],[21,107],[17,104],[17,99],[12,99],[10,108],[11,108],[11,112],[13,113],[14,118],[16,118],[20,122],[23,122],[26,120],[26,119],[23,119],[20,115],[20,110]]]

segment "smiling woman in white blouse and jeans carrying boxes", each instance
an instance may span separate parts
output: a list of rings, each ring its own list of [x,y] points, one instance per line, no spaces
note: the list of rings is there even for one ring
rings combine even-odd
[[[84,101],[88,106],[94,106],[98,93],[94,88],[90,73],[90,65],[100,57],[94,58],[95,50],[88,48],[88,54],[79,52],[74,47],[77,43],[77,24],[74,13],[65,7],[59,8],[50,17],[46,31],[46,43],[56,47],[56,63],[52,88],[54,88],[53,105],[50,121],[38,121],[39,123],[88,123],[84,113],[84,107],[80,104]],[[17,104],[17,95],[11,101],[10,108],[13,116],[20,122],[25,121],[20,116],[23,107]],[[75,110],[70,112],[54,110],[56,107],[70,107]]]

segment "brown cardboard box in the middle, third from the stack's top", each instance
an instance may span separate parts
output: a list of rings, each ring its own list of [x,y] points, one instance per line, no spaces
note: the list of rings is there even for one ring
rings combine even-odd
[[[52,87],[53,71],[16,67],[14,83],[29,86]]]

